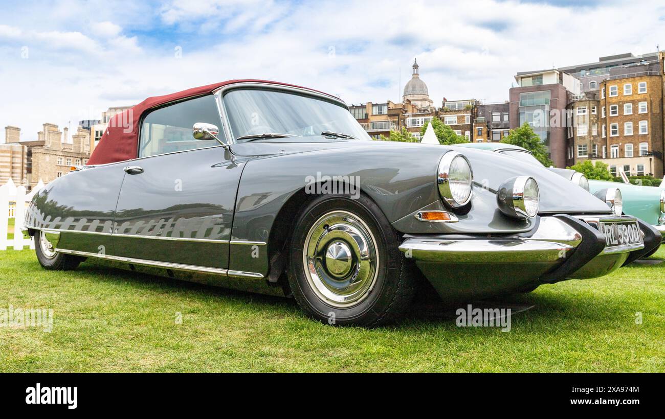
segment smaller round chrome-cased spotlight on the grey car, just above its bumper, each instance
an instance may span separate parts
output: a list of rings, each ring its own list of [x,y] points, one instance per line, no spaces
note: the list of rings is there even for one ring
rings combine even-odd
[[[538,214],[538,183],[529,176],[507,179],[499,187],[497,204],[501,212],[513,218],[533,218]]]

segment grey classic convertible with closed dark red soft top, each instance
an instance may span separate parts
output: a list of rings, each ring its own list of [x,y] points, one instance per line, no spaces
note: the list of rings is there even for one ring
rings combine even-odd
[[[544,167],[372,141],[338,98],[259,80],[118,114],[25,226],[46,269],[87,258],[366,327],[398,318],[423,277],[477,299],[602,276],[652,246],[638,219]]]

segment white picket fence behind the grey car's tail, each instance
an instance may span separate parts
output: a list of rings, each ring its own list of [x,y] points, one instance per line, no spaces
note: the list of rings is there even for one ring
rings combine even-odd
[[[25,246],[35,248],[33,240],[23,238],[21,228],[28,203],[43,187],[44,183],[40,179],[30,193],[25,193],[25,187],[23,185],[17,187],[11,178],[5,185],[0,186],[0,250],[7,250],[8,247],[23,250]],[[8,238],[9,220],[14,220],[14,238],[12,239]]]

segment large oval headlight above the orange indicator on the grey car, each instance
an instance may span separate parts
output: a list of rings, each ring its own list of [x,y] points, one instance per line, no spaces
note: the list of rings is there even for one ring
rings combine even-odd
[[[469,161],[455,151],[448,151],[441,158],[436,175],[439,194],[451,208],[460,208],[471,201],[473,171]]]

